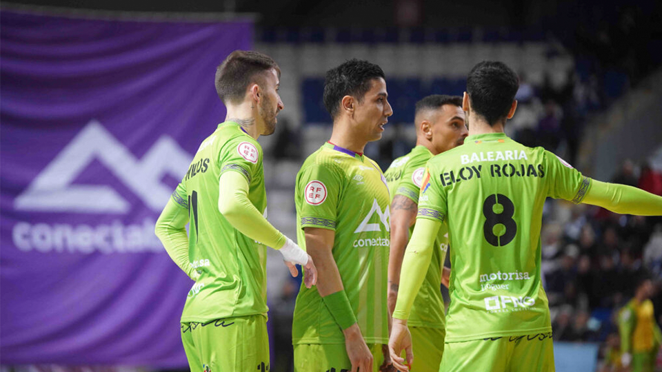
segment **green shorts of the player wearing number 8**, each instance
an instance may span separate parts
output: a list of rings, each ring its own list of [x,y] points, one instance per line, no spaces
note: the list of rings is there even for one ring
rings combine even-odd
[[[552,333],[447,342],[439,372],[457,371],[554,372]]]

